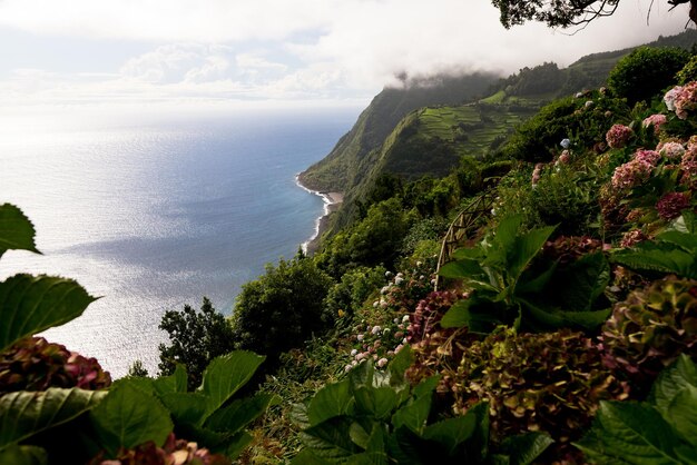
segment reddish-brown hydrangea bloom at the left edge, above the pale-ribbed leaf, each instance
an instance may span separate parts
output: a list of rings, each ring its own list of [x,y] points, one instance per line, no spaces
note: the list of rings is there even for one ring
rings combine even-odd
[[[49,387],[104,389],[108,372],[95,358],[86,358],[42,337],[27,337],[0,354],[0,395]]]

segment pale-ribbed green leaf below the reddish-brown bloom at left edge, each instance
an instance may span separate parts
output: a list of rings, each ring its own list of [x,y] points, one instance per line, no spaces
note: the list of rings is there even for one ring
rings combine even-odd
[[[104,390],[50,387],[45,392],[6,394],[0,397],[0,449],[69,422],[97,405]]]

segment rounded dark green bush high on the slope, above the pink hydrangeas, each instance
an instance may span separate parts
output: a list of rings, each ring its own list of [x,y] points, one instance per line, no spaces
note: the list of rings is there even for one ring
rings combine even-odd
[[[617,62],[608,87],[634,106],[670,86],[688,60],[689,52],[683,49],[639,47]]]

